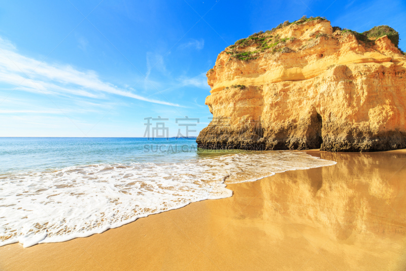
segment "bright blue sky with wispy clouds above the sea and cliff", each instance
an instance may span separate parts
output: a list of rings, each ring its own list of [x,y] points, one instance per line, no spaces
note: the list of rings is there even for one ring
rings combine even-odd
[[[1,3],[0,136],[142,137],[157,116],[175,136],[186,115],[200,118],[197,136],[218,53],[303,15],[358,32],[390,25],[406,50],[396,0]]]

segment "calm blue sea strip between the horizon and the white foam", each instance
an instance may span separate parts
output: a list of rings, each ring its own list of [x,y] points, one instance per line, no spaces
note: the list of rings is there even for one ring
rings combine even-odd
[[[205,154],[197,153],[195,139],[183,138],[0,137],[0,174],[89,164],[180,162]]]

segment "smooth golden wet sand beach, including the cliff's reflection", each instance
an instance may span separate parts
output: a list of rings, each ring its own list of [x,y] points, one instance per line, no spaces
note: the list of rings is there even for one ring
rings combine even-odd
[[[405,150],[308,153],[337,164],[86,238],[0,247],[0,269],[405,270]]]

